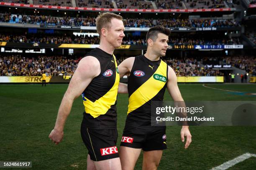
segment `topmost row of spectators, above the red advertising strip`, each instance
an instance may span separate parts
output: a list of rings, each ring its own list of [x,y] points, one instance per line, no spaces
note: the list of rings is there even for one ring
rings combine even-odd
[[[29,0],[0,0],[4,2],[26,3]],[[151,0],[157,9],[184,9],[187,8],[221,8],[225,7],[224,0]],[[234,0],[235,1],[235,0]],[[114,8],[110,0],[75,0],[77,7],[104,7]],[[118,8],[154,9],[152,3],[144,0],[116,0]],[[182,5],[182,3],[184,5]],[[255,0],[250,4],[254,4]],[[33,0],[34,5],[73,6],[72,0]]]

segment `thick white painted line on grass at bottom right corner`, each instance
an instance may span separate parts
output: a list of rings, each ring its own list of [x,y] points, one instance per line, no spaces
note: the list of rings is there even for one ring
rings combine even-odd
[[[236,158],[234,158],[233,160],[229,160],[228,162],[225,162],[221,165],[219,165],[218,167],[212,168],[211,170],[226,170],[234,165],[236,165],[237,163],[240,163],[248,158],[251,157],[256,157],[256,154],[251,154],[251,153],[245,153],[243,155],[240,155]]]

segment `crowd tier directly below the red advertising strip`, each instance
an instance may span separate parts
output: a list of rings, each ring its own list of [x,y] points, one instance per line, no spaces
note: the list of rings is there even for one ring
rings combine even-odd
[[[29,23],[29,24],[41,24],[41,25],[75,25],[75,26],[96,26],[96,20],[92,17],[71,18],[70,16],[64,16],[61,18],[45,16],[45,15],[12,15],[10,13],[0,14],[0,22],[5,23]],[[72,24],[74,22],[74,24]],[[146,28],[156,25],[163,25],[167,28],[179,28],[179,27],[237,27],[239,23],[232,19],[217,20],[217,19],[143,19],[143,18],[125,18],[125,27]]]

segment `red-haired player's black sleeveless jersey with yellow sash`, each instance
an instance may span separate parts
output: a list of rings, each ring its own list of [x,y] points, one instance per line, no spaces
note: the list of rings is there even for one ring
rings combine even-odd
[[[115,56],[100,48],[95,48],[85,56],[97,58],[101,71],[82,93],[85,110],[82,126],[95,129],[116,128],[116,99],[120,77]]]

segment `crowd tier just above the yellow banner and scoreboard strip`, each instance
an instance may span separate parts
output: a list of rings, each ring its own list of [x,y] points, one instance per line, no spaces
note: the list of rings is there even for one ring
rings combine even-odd
[[[125,36],[123,45],[146,45],[145,37],[141,36]],[[3,42],[20,42],[20,43],[47,43],[47,44],[100,44],[98,36],[88,35],[15,35],[15,34],[0,34],[0,41]],[[198,37],[169,37],[169,45],[239,45],[239,38],[220,38],[220,39],[205,39]]]

